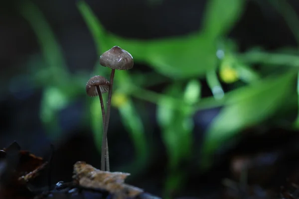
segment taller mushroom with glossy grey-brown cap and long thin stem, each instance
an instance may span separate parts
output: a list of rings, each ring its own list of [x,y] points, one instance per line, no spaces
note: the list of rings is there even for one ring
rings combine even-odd
[[[109,93],[108,93],[108,104],[107,104],[107,114],[105,119],[105,125],[104,125],[104,134],[103,134],[103,141],[102,145],[104,146],[106,154],[109,154],[108,152],[108,146],[106,145],[106,142],[104,142],[105,139],[107,139],[107,132],[108,132],[108,125],[109,125],[109,118],[110,118],[110,109],[111,109],[111,98],[112,98],[112,87],[113,87],[113,79],[115,70],[129,70],[132,69],[134,66],[134,60],[132,55],[123,50],[122,48],[118,46],[112,47],[110,50],[104,52],[100,56],[100,64],[104,67],[111,68],[111,75],[110,75],[110,85],[109,85]],[[102,156],[103,158],[103,156]],[[105,157],[104,157],[105,159]],[[107,160],[107,159],[106,159]],[[102,159],[103,161],[103,159]]]

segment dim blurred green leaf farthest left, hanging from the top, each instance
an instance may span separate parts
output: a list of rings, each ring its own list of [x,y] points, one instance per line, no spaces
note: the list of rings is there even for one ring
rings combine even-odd
[[[20,14],[28,21],[41,47],[43,63],[30,66],[32,79],[38,87],[43,88],[40,104],[40,118],[46,127],[46,132],[53,139],[61,136],[57,123],[58,112],[66,107],[69,99],[79,93],[79,89],[69,86],[73,81],[69,76],[62,50],[55,35],[40,9],[30,0],[18,3]]]

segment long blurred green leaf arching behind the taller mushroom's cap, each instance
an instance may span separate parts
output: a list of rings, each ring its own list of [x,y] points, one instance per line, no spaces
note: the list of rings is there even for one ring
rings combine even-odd
[[[240,0],[231,0],[232,3],[236,4],[231,6],[225,3],[224,6],[229,6],[230,9],[223,13],[224,8],[222,7],[219,10],[219,7],[215,5],[218,1],[216,0],[209,6],[206,17],[207,20],[216,21],[212,27],[213,29],[207,26],[209,31],[215,32],[214,36],[221,36],[220,34],[224,33],[225,29],[228,29],[225,26],[233,23],[232,18],[235,17],[234,20],[237,19],[236,9],[238,8],[238,12],[240,12],[242,8]],[[218,3],[221,6],[223,5],[222,1]],[[204,75],[207,70],[213,69],[216,65],[215,37],[211,38],[210,32],[204,35],[194,33],[181,37],[151,41],[125,39],[107,33],[85,1],[80,0],[77,5],[86,24],[93,33],[99,54],[117,45],[129,51],[136,61],[146,62],[158,73],[171,78],[198,77]],[[219,11],[220,14],[228,13],[228,17],[220,16],[217,14]],[[215,19],[213,14],[217,14],[217,17],[220,18]],[[212,19],[210,19],[211,17]],[[220,23],[218,22],[219,20]]]

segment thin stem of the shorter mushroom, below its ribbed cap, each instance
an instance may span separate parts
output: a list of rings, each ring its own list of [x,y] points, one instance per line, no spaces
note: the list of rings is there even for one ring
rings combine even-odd
[[[104,101],[103,101],[103,97],[102,97],[102,93],[100,90],[100,86],[96,86],[97,88],[97,92],[99,94],[99,99],[100,99],[100,103],[101,103],[101,109],[102,109],[102,117],[103,117],[103,140],[104,140],[104,130],[105,130],[105,107],[104,107]],[[103,141],[102,141],[103,142]],[[106,169],[109,170],[109,154],[108,154],[108,140],[107,140],[107,136],[106,136],[106,147],[107,147],[107,151],[105,150],[103,143],[102,143],[102,150],[101,150],[101,170],[105,171],[105,160],[106,160]],[[106,158],[105,158],[106,155]],[[108,162],[108,164],[107,164]]]

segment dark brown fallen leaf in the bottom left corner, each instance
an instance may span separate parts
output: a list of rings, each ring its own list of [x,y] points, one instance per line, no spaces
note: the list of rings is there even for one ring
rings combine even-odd
[[[0,150],[0,199],[31,199],[26,183],[34,179],[45,168],[47,162],[41,157],[20,150],[13,142]]]

